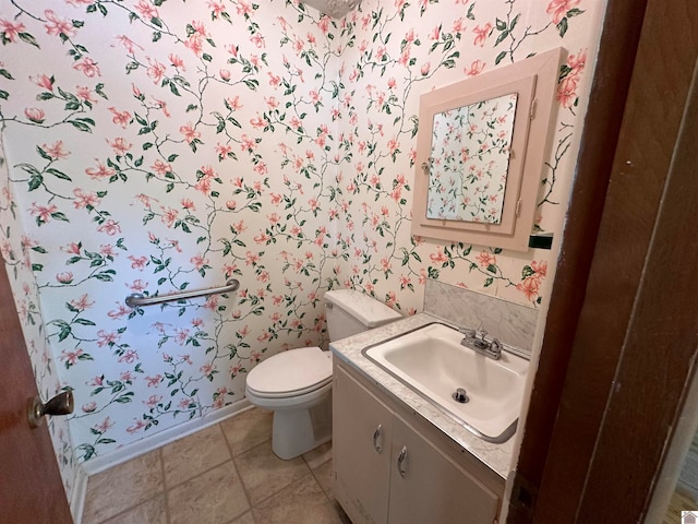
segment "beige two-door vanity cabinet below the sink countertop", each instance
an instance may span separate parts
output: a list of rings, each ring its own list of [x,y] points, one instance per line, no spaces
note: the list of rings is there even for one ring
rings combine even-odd
[[[492,524],[504,479],[335,359],[334,495],[353,524]]]

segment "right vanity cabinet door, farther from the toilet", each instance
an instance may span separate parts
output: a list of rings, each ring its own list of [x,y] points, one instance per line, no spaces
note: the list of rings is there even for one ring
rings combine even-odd
[[[498,497],[396,417],[388,522],[492,524]]]

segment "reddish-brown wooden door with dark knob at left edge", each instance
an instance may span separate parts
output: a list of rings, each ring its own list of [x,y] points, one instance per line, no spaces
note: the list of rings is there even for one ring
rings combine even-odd
[[[22,327],[0,259],[0,521],[65,524],[72,517],[46,425],[31,429],[37,395]]]

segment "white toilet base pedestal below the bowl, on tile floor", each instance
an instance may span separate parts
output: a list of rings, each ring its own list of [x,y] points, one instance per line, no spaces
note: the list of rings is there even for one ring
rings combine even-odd
[[[274,412],[272,450],[279,458],[296,458],[330,439],[332,390],[311,405]]]

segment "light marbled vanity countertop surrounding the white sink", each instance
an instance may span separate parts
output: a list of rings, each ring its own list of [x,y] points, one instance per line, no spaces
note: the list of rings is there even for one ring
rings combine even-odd
[[[479,439],[456,420],[441,412],[429,401],[414,393],[361,354],[361,350],[369,345],[386,341],[431,322],[447,323],[438,317],[429,313],[418,313],[413,317],[406,317],[397,322],[333,342],[329,347],[335,358],[347,362],[371,381],[377,382],[389,394],[405,403],[408,408],[417,412],[460,446],[468,450],[483,464],[506,479],[509,473],[515,436],[502,444],[494,444]]]

